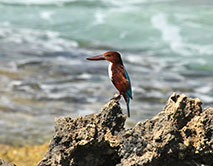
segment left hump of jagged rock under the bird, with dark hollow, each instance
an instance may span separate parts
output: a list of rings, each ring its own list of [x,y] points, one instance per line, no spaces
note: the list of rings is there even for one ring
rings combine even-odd
[[[116,165],[120,162],[116,134],[124,130],[125,120],[117,100],[98,114],[56,119],[49,152],[38,165]]]

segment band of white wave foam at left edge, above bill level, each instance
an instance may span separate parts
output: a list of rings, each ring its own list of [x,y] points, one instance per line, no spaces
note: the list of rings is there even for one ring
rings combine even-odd
[[[0,42],[24,45],[33,50],[64,51],[78,47],[73,40],[66,40],[60,37],[60,33],[53,31],[36,31],[34,29],[0,29]]]

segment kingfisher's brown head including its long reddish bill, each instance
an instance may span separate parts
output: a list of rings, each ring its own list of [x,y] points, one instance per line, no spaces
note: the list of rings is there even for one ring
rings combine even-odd
[[[116,51],[107,51],[102,55],[87,58],[87,60],[107,60],[112,63],[122,64],[121,55]]]

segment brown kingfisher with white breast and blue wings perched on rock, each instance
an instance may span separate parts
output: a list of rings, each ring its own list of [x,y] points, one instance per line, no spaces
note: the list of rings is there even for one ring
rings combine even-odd
[[[89,57],[87,60],[107,60],[110,62],[108,67],[109,78],[119,91],[119,94],[116,98],[123,96],[127,104],[128,117],[130,117],[129,103],[130,99],[132,99],[131,81],[123,65],[120,53],[116,51],[107,51],[102,55]]]

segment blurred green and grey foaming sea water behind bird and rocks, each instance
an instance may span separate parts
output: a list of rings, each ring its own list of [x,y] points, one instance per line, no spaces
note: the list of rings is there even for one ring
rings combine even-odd
[[[43,143],[55,117],[98,111],[116,89],[85,58],[107,50],[132,80],[127,126],[173,91],[213,105],[212,0],[0,0],[0,143]]]

